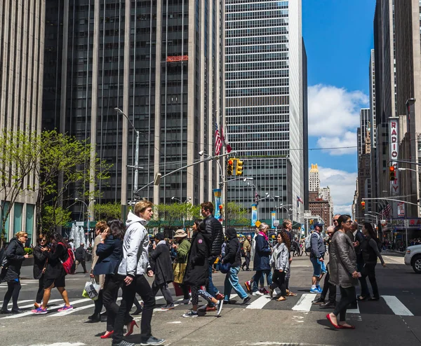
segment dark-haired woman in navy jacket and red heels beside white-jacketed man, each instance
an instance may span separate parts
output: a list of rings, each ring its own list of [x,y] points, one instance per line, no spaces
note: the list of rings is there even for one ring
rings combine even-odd
[[[123,221],[112,219],[107,221],[108,228],[101,233],[101,240],[96,249],[98,261],[93,268],[93,275],[105,275],[104,289],[102,292],[102,301],[107,309],[107,331],[100,338],[111,338],[114,333],[114,321],[119,305],[116,304],[119,289],[123,286],[124,277],[117,274],[121,258],[123,258],[123,239],[126,232],[126,226]],[[128,333],[133,333],[133,326],[136,323],[133,318],[127,314],[126,323],[128,324]],[[128,335],[130,335],[128,334]]]

